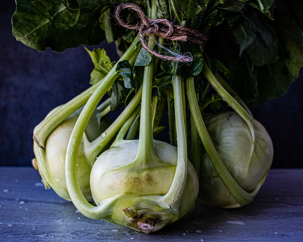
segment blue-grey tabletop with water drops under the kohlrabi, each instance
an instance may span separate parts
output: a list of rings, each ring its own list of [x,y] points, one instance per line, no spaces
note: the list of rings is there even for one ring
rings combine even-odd
[[[303,170],[272,169],[243,208],[197,204],[195,212],[154,234],[91,220],[45,190],[38,171],[0,167],[0,241],[224,242],[303,241]]]

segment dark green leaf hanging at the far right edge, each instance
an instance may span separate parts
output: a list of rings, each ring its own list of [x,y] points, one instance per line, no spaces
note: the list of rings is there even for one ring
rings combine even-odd
[[[256,79],[259,80],[259,96],[255,103],[265,103],[271,98],[284,95],[288,85],[298,78],[303,65],[302,32],[289,3],[278,2],[274,17],[279,58],[275,63],[255,70]]]

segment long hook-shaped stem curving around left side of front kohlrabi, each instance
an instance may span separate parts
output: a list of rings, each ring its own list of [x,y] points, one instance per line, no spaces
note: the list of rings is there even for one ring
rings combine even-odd
[[[120,60],[129,60],[132,55],[137,51],[137,42],[138,38],[132,43],[132,45],[128,48],[128,50],[123,54]],[[110,199],[105,199],[98,206],[93,206],[88,203],[88,201],[83,196],[80,186],[78,184],[77,177],[77,155],[79,151],[79,146],[81,142],[82,135],[85,131],[85,127],[88,123],[88,120],[92,116],[95,108],[97,107],[99,101],[102,99],[103,95],[106,93],[108,88],[112,85],[112,76],[118,75],[116,73],[116,65],[114,68],[110,70],[108,75],[104,78],[102,83],[98,86],[98,88],[92,93],[87,103],[83,107],[82,112],[80,113],[75,127],[72,131],[71,137],[68,142],[68,148],[66,152],[65,158],[65,177],[66,177],[66,185],[68,188],[68,193],[70,198],[75,205],[75,207],[85,216],[92,219],[104,219],[111,215],[112,211],[110,207],[117,200],[117,196],[112,197]]]

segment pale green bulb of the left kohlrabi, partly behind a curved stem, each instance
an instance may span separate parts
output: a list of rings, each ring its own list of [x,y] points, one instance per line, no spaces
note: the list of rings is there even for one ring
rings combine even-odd
[[[52,110],[47,116],[52,115],[56,109],[58,109],[58,107]],[[77,110],[75,113],[72,113],[49,134],[45,143],[45,149],[39,148],[34,142],[34,152],[37,162],[36,168],[44,178],[43,182],[45,187],[51,187],[60,197],[68,201],[71,201],[71,199],[66,187],[65,155],[69,138],[80,112],[81,110]],[[96,145],[93,141],[111,124],[111,121],[106,116],[102,117],[102,115],[101,111],[95,110],[90,118],[81,139],[77,158],[77,176],[81,181],[79,185],[88,201],[93,201],[89,177],[96,155],[98,155],[92,152],[93,146]]]

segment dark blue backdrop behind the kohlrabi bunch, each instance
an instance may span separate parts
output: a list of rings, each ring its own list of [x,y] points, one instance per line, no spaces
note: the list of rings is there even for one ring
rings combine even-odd
[[[83,47],[62,53],[38,52],[12,35],[15,2],[3,1],[0,10],[0,165],[31,165],[32,131],[54,107],[88,88],[92,61]],[[113,45],[102,43],[112,60]],[[90,50],[96,47],[89,47]],[[251,107],[274,144],[272,167],[299,168],[302,162],[303,71],[288,93]]]

